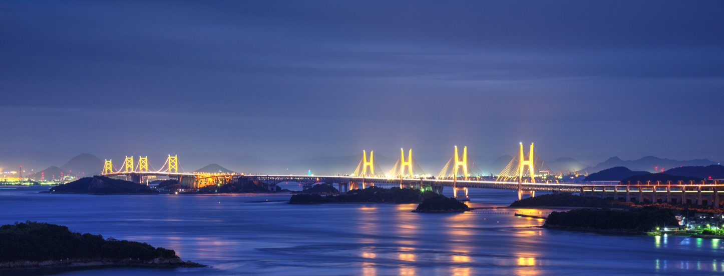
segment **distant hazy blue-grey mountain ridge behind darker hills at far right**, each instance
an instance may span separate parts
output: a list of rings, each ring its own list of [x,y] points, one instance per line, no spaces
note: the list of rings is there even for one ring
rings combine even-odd
[[[716,165],[717,163],[708,159],[695,159],[695,160],[670,160],[666,158],[657,158],[654,156],[647,156],[639,160],[621,160],[618,157],[608,158],[602,163],[594,167],[586,168],[585,170],[589,173],[596,173],[607,168],[613,167],[626,167],[632,171],[648,171],[654,172],[657,168],[675,168],[681,166],[695,166],[695,165]]]

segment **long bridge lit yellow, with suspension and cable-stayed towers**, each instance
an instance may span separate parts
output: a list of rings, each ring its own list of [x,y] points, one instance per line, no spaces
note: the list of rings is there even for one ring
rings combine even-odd
[[[412,150],[408,151],[408,157],[405,158],[405,152],[400,149],[400,159],[397,160],[395,166],[385,174],[374,160],[374,152],[369,152],[369,161],[367,154],[363,151],[362,160],[358,163],[355,171],[345,176],[295,176],[295,175],[245,175],[240,173],[186,173],[179,171],[179,163],[177,156],[171,156],[166,163],[158,171],[149,170],[148,158],[139,158],[138,163],[134,163],[133,157],[126,157],[121,168],[115,169],[111,160],[106,160],[102,175],[109,177],[125,177],[135,183],[143,183],[148,181],[148,176],[166,176],[177,179],[179,184],[189,189],[200,189],[211,185],[224,185],[237,181],[252,181],[259,186],[266,186],[270,190],[276,189],[277,184],[282,182],[297,182],[302,184],[303,189],[308,189],[313,184],[337,184],[341,192],[350,191],[352,189],[364,189],[367,186],[375,184],[392,184],[399,185],[400,188],[410,187],[423,190],[432,190],[438,194],[442,193],[445,187],[452,189],[453,197],[458,199],[468,198],[468,189],[508,189],[515,190],[518,193],[518,199],[522,199],[523,195],[535,196],[536,191],[552,191],[579,193],[581,196],[592,196],[606,198],[607,195],[613,195],[613,199],[620,199],[619,191],[626,189],[626,199],[628,200],[650,200],[655,201],[657,189],[667,189],[671,191],[671,184],[668,185],[651,185],[651,184],[621,184],[617,183],[565,183],[560,182],[551,174],[550,168],[545,165],[542,159],[535,155],[534,145],[531,143],[526,159],[523,152],[523,143],[520,143],[519,154],[510,160],[508,166],[498,174],[497,177],[483,176],[480,169],[477,168],[475,162],[468,155],[467,147],[463,147],[462,158],[460,158],[458,147],[454,147],[452,157],[442,168],[437,176],[425,175],[417,161],[413,158]],[[165,170],[164,170],[165,168]],[[691,194],[689,191],[698,189],[698,197],[691,199],[689,196],[681,196],[680,200],[694,200],[702,202],[702,187],[704,187],[704,196],[710,200],[708,203],[719,203],[717,193],[717,183],[713,184],[703,181],[702,184],[675,184],[674,191],[684,191],[683,194]],[[613,187],[613,188],[612,188]],[[652,188],[653,187],[653,188]],[[667,187],[667,188],[662,188]],[[698,188],[697,188],[698,187]],[[653,189],[653,190],[652,190]],[[710,191],[713,189],[713,194]],[[631,191],[638,192],[638,197],[630,197]],[[644,197],[646,191],[653,191],[652,197]],[[649,192],[650,193],[650,192]],[[661,193],[660,193],[661,194]],[[671,197],[668,197],[670,202]]]

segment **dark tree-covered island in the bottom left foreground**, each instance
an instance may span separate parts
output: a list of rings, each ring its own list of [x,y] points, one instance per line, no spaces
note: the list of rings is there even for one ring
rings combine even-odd
[[[0,269],[124,265],[206,267],[148,243],[75,233],[66,226],[27,221],[0,226]]]

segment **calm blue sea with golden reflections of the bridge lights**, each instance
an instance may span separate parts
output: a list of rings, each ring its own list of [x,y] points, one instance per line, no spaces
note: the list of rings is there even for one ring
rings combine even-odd
[[[712,275],[721,240],[536,228],[513,212],[416,204],[292,205],[288,194],[69,195],[0,189],[0,223],[34,220],[174,249],[204,268],[35,269],[22,275]],[[451,193],[452,191],[445,191]],[[513,191],[471,190],[473,207]]]

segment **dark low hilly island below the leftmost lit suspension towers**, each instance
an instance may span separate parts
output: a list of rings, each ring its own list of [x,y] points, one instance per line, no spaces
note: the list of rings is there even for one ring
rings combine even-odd
[[[57,194],[158,194],[146,185],[105,176],[84,177],[67,184],[54,186]]]

